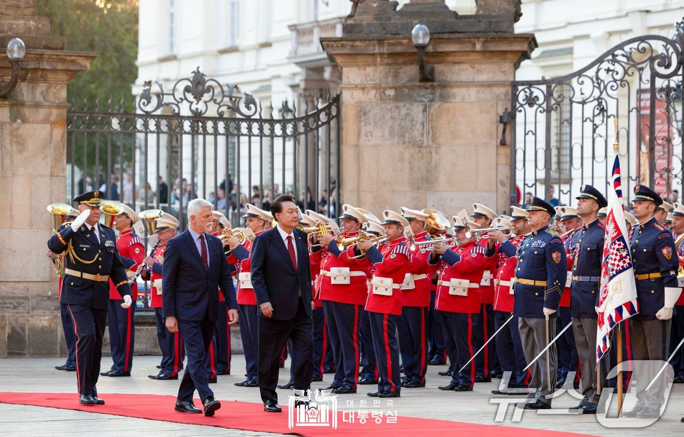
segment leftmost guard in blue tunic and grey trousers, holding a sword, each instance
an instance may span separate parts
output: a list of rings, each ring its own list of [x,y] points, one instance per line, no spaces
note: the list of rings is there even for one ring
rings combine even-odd
[[[555,337],[555,318],[568,265],[562,240],[549,229],[555,214],[553,207],[539,197],[531,197],[527,212],[532,232],[518,247],[513,313],[518,317],[525,359],[531,363],[547,347],[547,339]],[[541,354],[531,366],[529,388],[533,391],[527,395],[525,408],[551,408],[556,371],[557,353],[555,345],[551,345],[549,353]]]

